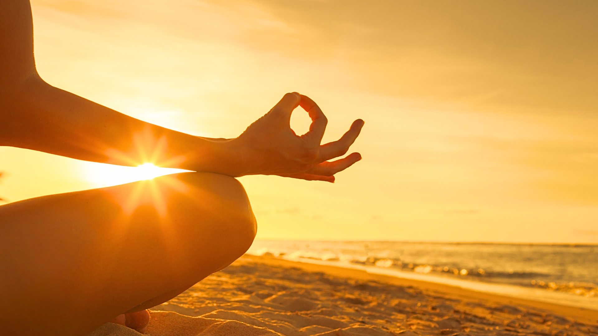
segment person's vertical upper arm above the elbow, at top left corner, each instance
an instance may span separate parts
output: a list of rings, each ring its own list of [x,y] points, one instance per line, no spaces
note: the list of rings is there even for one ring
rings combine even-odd
[[[33,19],[29,0],[0,1],[0,85],[22,83],[36,75]]]

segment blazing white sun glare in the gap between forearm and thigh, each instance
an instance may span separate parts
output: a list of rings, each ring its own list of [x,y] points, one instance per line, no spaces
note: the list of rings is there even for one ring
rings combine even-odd
[[[173,173],[188,172],[184,169],[157,167],[152,163],[144,163],[137,167],[89,163],[86,168],[87,181],[100,188],[157,178],[158,176]]]

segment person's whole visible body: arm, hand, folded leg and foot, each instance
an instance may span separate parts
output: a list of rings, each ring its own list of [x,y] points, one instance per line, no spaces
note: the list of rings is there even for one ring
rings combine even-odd
[[[312,118],[301,136],[289,126],[298,106]],[[85,335],[108,321],[143,331],[147,308],[251,246],[255,217],[235,177],[334,182],[361,160],[352,153],[330,161],[346,154],[364,122],[322,145],[327,122],[312,99],[287,93],[234,139],[145,123],[42,80],[29,1],[0,1],[0,145],[194,171],[0,206],[2,331]]]

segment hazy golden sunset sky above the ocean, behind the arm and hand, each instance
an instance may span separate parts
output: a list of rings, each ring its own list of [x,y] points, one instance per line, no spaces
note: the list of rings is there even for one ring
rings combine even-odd
[[[598,243],[598,2],[32,6],[42,77],[141,120],[232,138],[288,91],[322,107],[325,141],[365,120],[335,184],[240,178],[258,238]],[[0,196],[135,175],[119,169],[0,147]]]

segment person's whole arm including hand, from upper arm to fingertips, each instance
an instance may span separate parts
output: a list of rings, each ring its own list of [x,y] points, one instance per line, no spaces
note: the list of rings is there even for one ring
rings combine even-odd
[[[312,117],[310,132],[295,135],[291,112],[301,105]],[[145,123],[45,83],[35,69],[28,0],[0,2],[0,145],[80,160],[215,172],[269,174],[334,181],[357,153],[334,163],[361,130],[353,123],[337,142],[320,145],[326,118],[308,97],[289,93],[235,139],[208,139]]]

